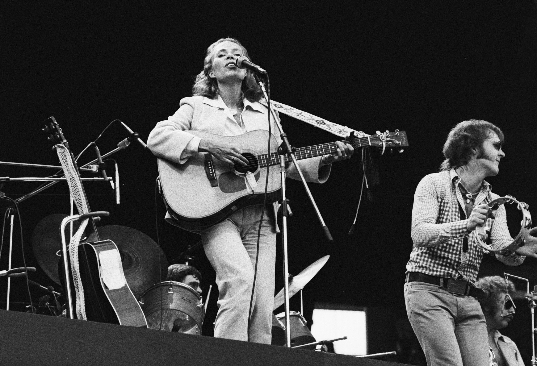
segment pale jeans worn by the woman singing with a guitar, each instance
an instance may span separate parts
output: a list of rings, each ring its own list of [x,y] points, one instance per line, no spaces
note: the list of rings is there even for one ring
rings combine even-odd
[[[214,336],[248,340],[248,310],[256,263],[257,232],[263,206],[249,206],[201,233],[205,254],[216,271],[219,290]],[[272,205],[267,204],[259,240],[250,341],[271,343],[274,306],[276,231]]]

